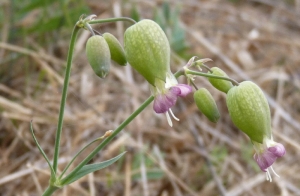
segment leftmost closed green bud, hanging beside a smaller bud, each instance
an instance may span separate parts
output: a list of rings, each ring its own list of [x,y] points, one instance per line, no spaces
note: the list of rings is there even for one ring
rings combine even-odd
[[[100,35],[90,37],[86,43],[86,55],[97,76],[105,78],[110,68],[110,51],[105,39]]]

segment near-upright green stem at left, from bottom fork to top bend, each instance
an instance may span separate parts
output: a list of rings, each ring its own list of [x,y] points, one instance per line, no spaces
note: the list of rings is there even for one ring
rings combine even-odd
[[[55,148],[54,148],[54,158],[53,158],[53,170],[54,170],[55,173],[57,171],[59,146],[60,146],[61,132],[62,132],[62,126],[63,126],[63,117],[64,117],[64,111],[65,111],[65,105],[66,105],[66,99],[67,99],[67,92],[68,92],[68,86],[69,86],[69,80],[70,80],[70,73],[71,73],[72,59],[73,59],[73,53],[74,53],[74,46],[75,46],[75,41],[76,41],[76,37],[77,37],[79,29],[80,29],[80,27],[78,27],[77,25],[74,26],[73,32],[72,32],[72,35],[71,35],[70,46],[69,46],[69,52],[68,52],[68,58],[67,58],[67,67],[66,67],[66,73],[65,73],[65,80],[64,80],[63,90],[62,90],[60,109],[59,109],[59,117],[58,117],[58,124],[57,124],[56,136],[55,136]]]

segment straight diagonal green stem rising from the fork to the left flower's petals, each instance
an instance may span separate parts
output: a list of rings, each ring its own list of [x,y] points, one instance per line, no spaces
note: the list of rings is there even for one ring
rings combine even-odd
[[[136,111],[134,111],[123,123],[109,136],[105,139],[99,146],[97,146],[73,171],[71,171],[65,178],[63,178],[60,183],[61,185],[66,185],[68,182],[76,175],[76,173],[85,166],[92,158],[104,148],[114,137],[116,137],[123,129],[126,127],[137,115],[139,115],[152,101],[153,96],[150,96]]]

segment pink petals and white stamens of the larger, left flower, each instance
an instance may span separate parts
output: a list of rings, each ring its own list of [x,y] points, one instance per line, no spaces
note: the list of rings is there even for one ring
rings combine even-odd
[[[171,72],[166,73],[166,82],[160,79],[155,80],[155,86],[150,85],[151,92],[154,96],[153,109],[156,113],[165,113],[169,125],[173,123],[170,115],[177,121],[179,119],[173,114],[173,107],[178,97],[185,97],[192,92],[192,87],[186,84],[178,84],[176,78]]]

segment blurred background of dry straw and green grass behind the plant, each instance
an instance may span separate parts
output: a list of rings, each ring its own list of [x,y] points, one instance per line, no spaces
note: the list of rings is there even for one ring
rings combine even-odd
[[[207,66],[218,66],[239,82],[257,83],[270,103],[274,140],[287,154],[273,165],[281,177],[267,182],[252,158],[251,142],[229,118],[225,94],[197,77],[196,85],[206,87],[217,102],[217,124],[197,110],[192,95],[172,108],[180,118],[173,128],[151,104],[93,162],[127,151],[122,159],[54,195],[300,195],[299,0],[1,0],[0,5],[0,195],[41,195],[47,187],[49,170],[29,123],[33,120],[36,137],[52,159],[68,45],[82,14],[153,19],[169,38],[172,71],[196,55],[211,58]],[[93,27],[123,43],[129,25]],[[60,171],[150,96],[147,82],[130,66],[112,62],[107,78],[98,78],[85,56],[90,36],[82,30],[76,42]]]

